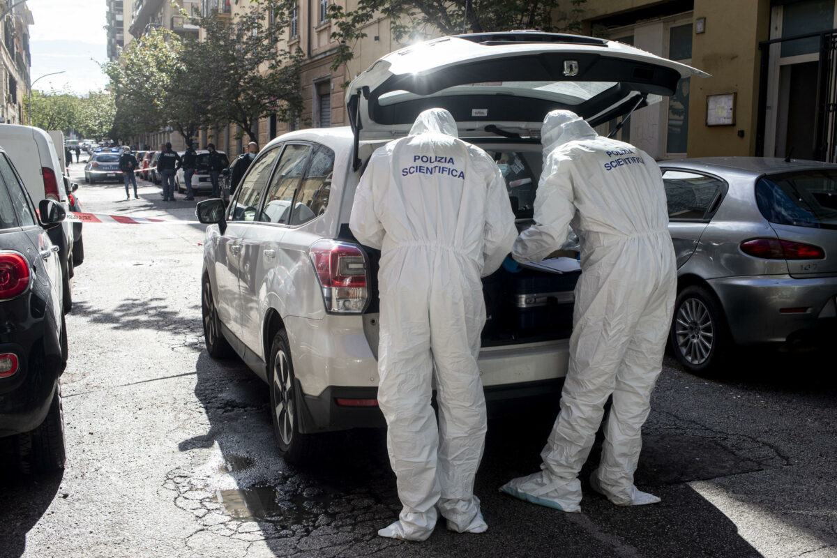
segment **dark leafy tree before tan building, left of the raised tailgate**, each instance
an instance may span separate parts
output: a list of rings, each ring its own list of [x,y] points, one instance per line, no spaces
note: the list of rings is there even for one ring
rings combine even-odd
[[[259,118],[302,107],[301,51],[283,49],[277,38],[290,22],[294,3],[252,0],[233,22],[213,12],[193,18],[203,28],[201,43],[184,45],[183,66],[194,69],[201,86],[201,106],[217,125],[235,123],[242,136],[258,141]],[[190,70],[191,71],[191,70]]]

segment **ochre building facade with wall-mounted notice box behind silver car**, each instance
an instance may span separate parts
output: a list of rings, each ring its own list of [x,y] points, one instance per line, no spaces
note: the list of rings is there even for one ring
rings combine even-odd
[[[585,31],[711,74],[634,115],[622,136],[658,159],[837,156],[834,0],[589,0]]]

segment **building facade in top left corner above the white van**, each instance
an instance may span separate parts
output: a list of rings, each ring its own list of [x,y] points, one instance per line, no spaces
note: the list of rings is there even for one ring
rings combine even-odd
[[[11,6],[11,8],[10,8]],[[26,3],[0,2],[3,15],[3,47],[0,48],[0,123],[26,124],[25,103],[30,91],[32,56],[29,54],[29,26],[34,24]]]

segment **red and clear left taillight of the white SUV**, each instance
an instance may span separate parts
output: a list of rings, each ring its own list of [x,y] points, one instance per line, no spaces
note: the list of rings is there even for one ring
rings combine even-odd
[[[326,310],[359,314],[366,308],[366,256],[357,244],[321,240],[308,250],[320,280]]]

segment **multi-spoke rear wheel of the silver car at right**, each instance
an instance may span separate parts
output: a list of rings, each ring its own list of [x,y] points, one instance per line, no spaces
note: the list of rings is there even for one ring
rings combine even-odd
[[[696,374],[714,371],[729,344],[721,305],[699,285],[677,295],[669,335],[677,361]]]

